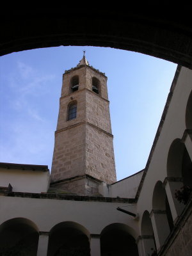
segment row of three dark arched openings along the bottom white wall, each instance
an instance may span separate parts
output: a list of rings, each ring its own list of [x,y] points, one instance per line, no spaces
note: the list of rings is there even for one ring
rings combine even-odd
[[[26,218],[14,218],[5,221],[0,226],[0,255],[42,255],[42,237],[47,239],[47,256],[61,255],[97,255],[94,235],[86,228],[73,221],[56,224],[50,232],[40,232],[33,221]],[[123,223],[113,223],[105,227],[100,236],[100,255],[131,255],[138,256],[138,249],[134,237],[130,234],[130,227]],[[92,245],[93,244],[93,245]],[[41,248],[40,248],[41,247]],[[94,249],[94,252],[92,250]],[[10,253],[10,254],[9,254]]]

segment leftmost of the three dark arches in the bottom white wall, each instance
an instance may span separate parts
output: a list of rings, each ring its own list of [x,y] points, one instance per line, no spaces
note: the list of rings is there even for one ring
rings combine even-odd
[[[39,230],[36,224],[26,218],[13,218],[0,225],[0,253],[19,256],[26,253],[35,256],[38,247]]]

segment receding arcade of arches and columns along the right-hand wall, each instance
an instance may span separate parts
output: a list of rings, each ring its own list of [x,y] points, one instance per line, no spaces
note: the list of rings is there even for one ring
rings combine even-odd
[[[140,255],[152,255],[152,248],[156,248],[156,252],[161,252],[166,241],[173,235],[175,225],[190,200],[192,191],[191,99],[190,92],[184,110],[184,129],[180,131],[184,135],[182,138],[173,139],[168,150],[165,145],[164,150],[168,154],[164,157],[166,162],[162,166],[166,166],[166,170],[162,170],[162,173],[166,175],[159,174],[161,180],[156,180],[152,189],[150,209],[148,211],[145,209],[141,214],[141,236],[138,239]],[[179,123],[179,120],[176,123]],[[181,199],[180,193],[185,198],[181,196]]]

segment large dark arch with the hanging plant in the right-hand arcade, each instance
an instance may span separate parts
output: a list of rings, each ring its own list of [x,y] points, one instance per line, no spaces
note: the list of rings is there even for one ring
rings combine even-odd
[[[175,216],[180,215],[184,204],[188,202],[192,189],[192,161],[188,154],[185,143],[175,139],[168,152],[166,190],[169,191],[169,198],[172,197]]]

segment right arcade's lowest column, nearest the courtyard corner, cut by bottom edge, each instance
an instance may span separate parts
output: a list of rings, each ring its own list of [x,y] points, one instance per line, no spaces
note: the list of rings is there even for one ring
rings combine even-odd
[[[156,250],[154,237],[151,235],[139,236],[138,239],[136,239],[136,244],[138,244],[138,252],[140,256],[152,255]]]

